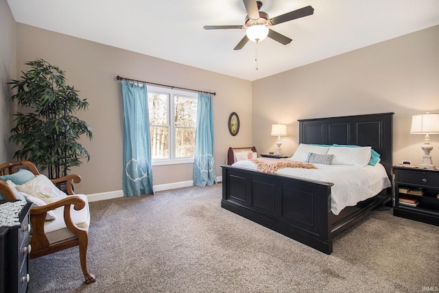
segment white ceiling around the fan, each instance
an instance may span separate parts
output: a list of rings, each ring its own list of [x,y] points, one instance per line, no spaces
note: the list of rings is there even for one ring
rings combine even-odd
[[[267,38],[257,49],[248,42],[234,51],[244,30],[204,30],[203,26],[244,25],[247,13],[242,0],[8,0],[19,23],[244,80],[439,25],[439,0],[262,2],[261,11],[270,18],[307,5],[314,14],[272,27],[293,39],[289,45]]]

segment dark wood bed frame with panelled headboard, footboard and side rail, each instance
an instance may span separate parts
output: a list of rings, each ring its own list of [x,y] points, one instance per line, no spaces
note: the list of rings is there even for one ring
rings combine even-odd
[[[300,143],[370,145],[381,154],[388,176],[392,167],[392,116],[394,113],[300,119]],[[287,237],[333,251],[333,237],[390,200],[384,189],[339,215],[331,212],[331,186],[315,180],[267,174],[222,165],[224,209],[257,222]],[[355,191],[353,191],[355,192]]]

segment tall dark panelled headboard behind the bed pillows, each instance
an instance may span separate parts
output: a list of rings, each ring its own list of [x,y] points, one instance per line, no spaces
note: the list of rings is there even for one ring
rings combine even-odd
[[[390,177],[394,113],[299,119],[299,142],[371,146]]]

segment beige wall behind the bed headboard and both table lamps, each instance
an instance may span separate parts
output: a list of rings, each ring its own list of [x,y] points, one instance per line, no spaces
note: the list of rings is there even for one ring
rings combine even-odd
[[[394,112],[393,162],[420,164],[423,135],[412,115],[439,113],[439,26],[351,51],[252,83],[252,139],[276,149],[271,125],[287,124],[283,152],[298,145],[298,119]],[[322,44],[324,49],[324,44]],[[439,135],[431,135],[439,165]]]

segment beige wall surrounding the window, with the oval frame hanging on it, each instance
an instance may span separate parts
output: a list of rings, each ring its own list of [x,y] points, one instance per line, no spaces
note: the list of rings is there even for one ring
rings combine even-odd
[[[230,145],[252,141],[251,82],[74,38],[29,25],[16,25],[17,71],[43,58],[66,71],[68,83],[90,103],[78,116],[93,128],[93,140],[81,142],[92,158],[72,172],[82,176],[78,192],[94,194],[122,189],[123,104],[117,75],[159,84],[216,92],[213,98],[217,176]],[[152,43],[152,45],[154,45]],[[241,128],[228,133],[228,116],[236,112]],[[193,164],[153,167],[154,185],[192,180]]]

